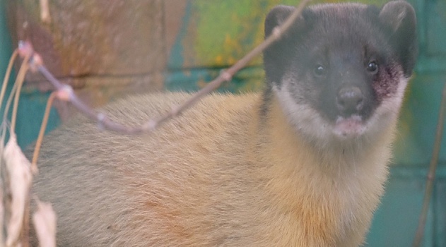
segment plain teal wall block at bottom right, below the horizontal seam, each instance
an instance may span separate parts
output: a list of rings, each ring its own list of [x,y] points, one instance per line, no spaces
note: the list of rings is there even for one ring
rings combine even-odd
[[[427,171],[423,168],[392,167],[386,192],[382,204],[375,212],[366,246],[411,246],[421,212],[426,174]],[[430,204],[422,246],[438,246],[434,244],[435,236],[440,234],[444,237],[444,231],[434,231],[437,228],[434,202],[435,196]],[[444,212],[442,209],[440,211]]]

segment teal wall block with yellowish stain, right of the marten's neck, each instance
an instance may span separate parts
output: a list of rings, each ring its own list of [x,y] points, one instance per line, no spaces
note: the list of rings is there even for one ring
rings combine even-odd
[[[409,83],[394,145],[394,164],[429,164],[445,83],[446,77],[440,73],[416,73]],[[446,161],[446,131],[442,138],[440,161]]]

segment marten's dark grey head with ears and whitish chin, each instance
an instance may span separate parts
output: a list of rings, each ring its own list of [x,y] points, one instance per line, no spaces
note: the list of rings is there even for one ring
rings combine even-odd
[[[277,6],[265,33],[294,10]],[[397,112],[417,55],[416,17],[405,1],[312,6],[264,52],[269,88],[291,123],[322,141],[374,135]]]

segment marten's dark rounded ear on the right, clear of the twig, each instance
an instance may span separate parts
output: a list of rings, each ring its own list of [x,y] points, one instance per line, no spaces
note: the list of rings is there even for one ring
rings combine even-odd
[[[390,1],[382,7],[380,21],[390,32],[390,43],[403,65],[404,75],[411,76],[418,56],[415,11],[406,1]]]

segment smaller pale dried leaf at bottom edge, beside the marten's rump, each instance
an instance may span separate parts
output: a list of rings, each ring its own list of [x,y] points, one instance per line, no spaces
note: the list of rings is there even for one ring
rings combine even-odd
[[[37,203],[37,212],[33,215],[33,224],[39,239],[40,246],[56,246],[56,214],[49,203]]]

